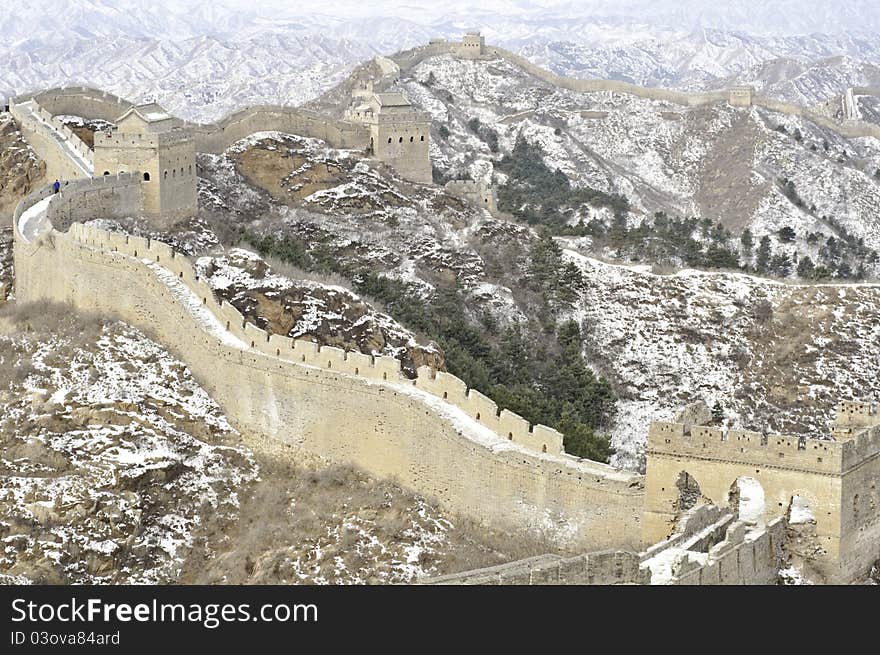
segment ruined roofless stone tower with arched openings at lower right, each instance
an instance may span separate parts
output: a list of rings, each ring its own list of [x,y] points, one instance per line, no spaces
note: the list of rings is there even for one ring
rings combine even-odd
[[[768,521],[784,517],[795,495],[808,502],[824,550],[816,568],[829,581],[852,580],[880,557],[880,427],[830,441],[656,422],[647,453],[646,543],[670,533],[676,482],[687,473],[702,497],[720,506],[729,504],[737,479],[757,480]]]

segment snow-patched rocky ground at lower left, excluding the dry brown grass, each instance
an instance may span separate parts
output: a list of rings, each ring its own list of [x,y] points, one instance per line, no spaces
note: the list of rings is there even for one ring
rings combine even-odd
[[[32,372],[0,397],[0,570],[67,583],[173,579],[203,506],[234,514],[256,475],[245,451],[209,443],[233,434],[217,405],[120,324],[94,348],[63,335],[12,339],[0,337],[3,360],[21,357]]]

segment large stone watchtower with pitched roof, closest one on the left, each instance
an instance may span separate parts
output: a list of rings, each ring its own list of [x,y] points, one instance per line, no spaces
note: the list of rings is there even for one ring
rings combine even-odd
[[[167,225],[195,216],[195,141],[183,122],[156,104],[138,105],[95,134],[95,174],[140,171],[144,213]]]

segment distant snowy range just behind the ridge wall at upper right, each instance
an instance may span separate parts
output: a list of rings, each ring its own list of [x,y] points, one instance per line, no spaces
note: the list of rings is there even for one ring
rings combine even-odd
[[[880,35],[758,37],[700,30],[629,41],[531,39],[514,49],[559,75],[705,91],[751,84],[805,105],[880,81]]]

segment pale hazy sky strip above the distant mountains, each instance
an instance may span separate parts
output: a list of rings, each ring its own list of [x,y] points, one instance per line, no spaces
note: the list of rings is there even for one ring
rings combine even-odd
[[[752,34],[880,32],[880,0],[0,0],[0,5],[0,36],[4,28],[16,36],[26,35],[32,25],[49,28],[59,17],[68,28],[81,21],[87,31],[106,22],[137,32],[137,22],[143,19],[143,27],[151,30],[167,23],[173,31],[177,21],[204,34],[235,30],[250,19],[320,25],[316,16],[326,17],[328,24],[384,17],[425,27],[503,29],[519,23],[540,29],[592,18],[599,24],[674,31],[704,27]]]

